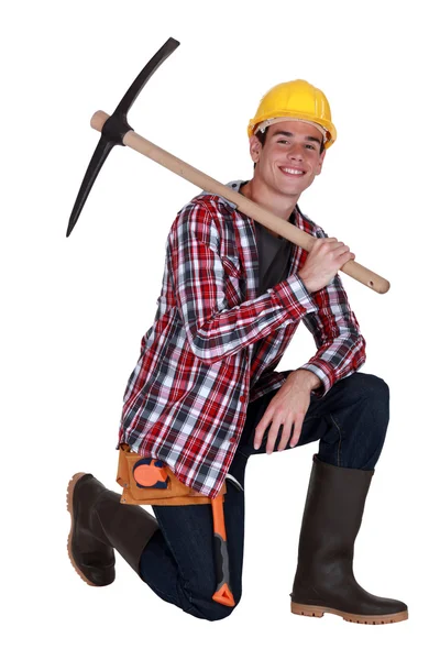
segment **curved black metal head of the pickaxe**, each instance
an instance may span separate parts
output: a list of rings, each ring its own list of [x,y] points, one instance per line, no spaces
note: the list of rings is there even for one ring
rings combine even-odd
[[[79,218],[79,213],[82,210],[84,205],[86,204],[87,197],[91,190],[91,187],[97,178],[99,170],[106,162],[107,156],[116,144],[123,144],[123,138],[125,133],[132,131],[133,129],[127,121],[127,114],[141,94],[145,84],[155,70],[161,66],[163,62],[172,54],[174,51],[180,45],[178,41],[173,37],[169,37],[167,42],[157,51],[157,53],[150,59],[148,64],[144,66],[142,72],[139,74],[138,78],[128,89],[127,94],[122,98],[121,102],[118,105],[113,114],[109,117],[106,123],[102,127],[101,136],[99,139],[98,145],[95,150],[94,155],[91,156],[91,161],[87,168],[86,175],[82,179],[81,187],[79,188],[79,193],[77,195],[73,211],[70,213],[67,233],[69,237],[77,220]]]

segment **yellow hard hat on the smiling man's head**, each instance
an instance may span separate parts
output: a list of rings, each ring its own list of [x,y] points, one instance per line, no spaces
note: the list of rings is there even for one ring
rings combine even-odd
[[[270,89],[262,98],[254,119],[249,122],[248,135],[287,119],[297,119],[317,127],[324,136],[326,148],[337,139],[329,101],[320,89],[306,80],[280,82]]]

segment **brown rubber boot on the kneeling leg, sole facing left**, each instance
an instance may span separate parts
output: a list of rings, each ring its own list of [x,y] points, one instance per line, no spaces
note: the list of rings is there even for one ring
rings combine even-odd
[[[113,548],[140,575],[142,551],[158,528],[156,519],[141,506],[121,504],[120,499],[92,474],[79,472],[69,481],[67,551],[74,569],[90,586],[113,582]]]

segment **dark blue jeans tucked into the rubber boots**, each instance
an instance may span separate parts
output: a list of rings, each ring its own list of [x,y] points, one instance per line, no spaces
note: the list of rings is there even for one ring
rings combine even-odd
[[[243,566],[244,473],[251,454],[265,453],[268,430],[257,451],[253,448],[254,430],[276,393],[271,392],[248,407],[245,426],[229,471],[243,490],[227,481],[223,508],[230,587],[235,606],[241,597]],[[318,458],[321,461],[341,468],[373,470],[384,444],[388,420],[386,383],[370,374],[355,373],[336,383],[324,397],[311,395],[297,447],[319,440]],[[160,529],[141,558],[143,581],[161,598],[195,617],[212,622],[229,616],[233,607],[212,601],[217,582],[211,506],[154,506],[153,509]]]

